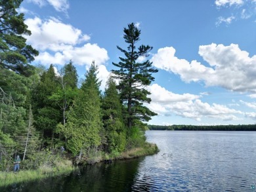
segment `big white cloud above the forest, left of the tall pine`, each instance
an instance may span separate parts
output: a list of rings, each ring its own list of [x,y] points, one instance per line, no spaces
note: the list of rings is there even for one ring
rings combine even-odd
[[[40,50],[35,62],[63,65],[72,60],[74,64],[90,66],[93,60],[100,65],[109,59],[106,49],[97,44],[83,44],[91,37],[70,24],[56,18],[41,20],[38,17],[28,18],[25,23],[32,31],[32,35],[26,37],[28,43]]]

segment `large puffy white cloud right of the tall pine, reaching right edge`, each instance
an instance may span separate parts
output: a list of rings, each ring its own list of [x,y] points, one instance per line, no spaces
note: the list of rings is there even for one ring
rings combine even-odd
[[[175,48],[160,48],[151,61],[155,67],[180,75],[182,81],[203,81],[206,86],[222,86],[238,92],[256,92],[256,56],[240,50],[238,45],[202,45],[200,56],[209,64],[188,62],[175,56]]]

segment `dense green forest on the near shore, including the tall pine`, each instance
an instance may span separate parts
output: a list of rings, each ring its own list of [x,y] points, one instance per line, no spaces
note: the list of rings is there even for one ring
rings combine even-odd
[[[102,91],[94,61],[79,85],[72,61],[58,71],[53,64],[31,65],[39,52],[26,44],[31,32],[16,12],[20,3],[0,1],[0,170],[10,170],[16,155],[28,169],[59,163],[61,146],[65,157],[81,160],[144,145],[144,123],[156,115],[143,106],[150,103],[144,87],[157,70],[148,60],[137,62],[152,47],[135,48],[135,24],[123,29],[128,48],[117,46],[124,58]]]

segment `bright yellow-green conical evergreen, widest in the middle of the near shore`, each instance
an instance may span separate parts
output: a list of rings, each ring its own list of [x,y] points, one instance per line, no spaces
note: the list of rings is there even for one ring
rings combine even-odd
[[[100,83],[96,78],[97,67],[93,63],[85,75],[86,79],[75,97],[74,106],[68,114],[66,126],[60,126],[68,139],[67,147],[74,155],[83,151],[89,154],[101,144],[102,119],[100,111]]]

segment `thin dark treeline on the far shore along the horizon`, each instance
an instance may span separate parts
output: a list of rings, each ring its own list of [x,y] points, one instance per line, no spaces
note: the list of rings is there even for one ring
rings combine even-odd
[[[256,131],[256,125],[148,125],[149,130],[232,130]]]

